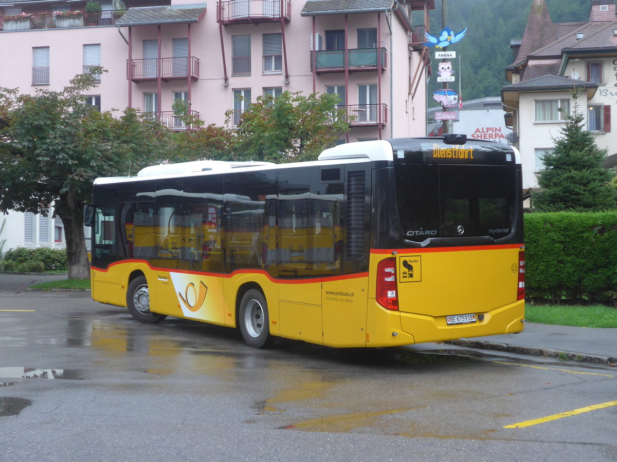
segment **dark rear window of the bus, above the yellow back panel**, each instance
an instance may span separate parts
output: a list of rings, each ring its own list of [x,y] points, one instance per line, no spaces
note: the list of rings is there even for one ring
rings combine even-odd
[[[492,237],[514,232],[516,172],[511,166],[398,164],[395,192],[405,238]]]

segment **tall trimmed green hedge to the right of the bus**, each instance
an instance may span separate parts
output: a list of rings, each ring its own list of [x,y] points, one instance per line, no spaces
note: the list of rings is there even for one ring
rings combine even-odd
[[[617,213],[525,215],[525,287],[532,301],[617,296]]]

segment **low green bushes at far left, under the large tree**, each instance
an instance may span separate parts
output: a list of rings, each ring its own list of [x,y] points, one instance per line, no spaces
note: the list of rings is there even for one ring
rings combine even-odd
[[[2,270],[4,271],[42,273],[66,271],[67,268],[67,251],[65,249],[18,247],[7,251],[2,259]]]

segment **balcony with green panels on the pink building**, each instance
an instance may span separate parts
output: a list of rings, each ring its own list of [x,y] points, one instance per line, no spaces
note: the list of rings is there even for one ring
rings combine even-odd
[[[313,57],[315,53],[315,57]],[[378,62],[381,53],[381,62]],[[376,71],[386,70],[387,53],[385,48],[355,48],[347,50],[347,70]],[[314,59],[314,62],[313,62]],[[311,52],[310,67],[317,73],[345,71],[345,50],[322,50]]]

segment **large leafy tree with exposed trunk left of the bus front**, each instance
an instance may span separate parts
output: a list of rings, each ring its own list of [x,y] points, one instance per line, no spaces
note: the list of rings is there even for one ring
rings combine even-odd
[[[167,131],[127,108],[120,118],[99,112],[83,93],[93,67],[62,91],[35,95],[0,88],[0,211],[46,214],[54,203],[67,241],[68,277],[87,278],[83,209],[93,180],[120,176],[162,158]]]

